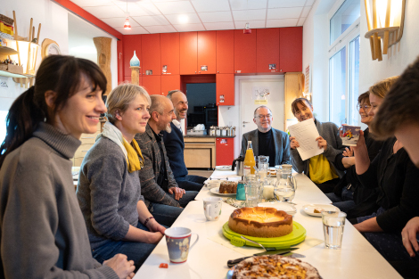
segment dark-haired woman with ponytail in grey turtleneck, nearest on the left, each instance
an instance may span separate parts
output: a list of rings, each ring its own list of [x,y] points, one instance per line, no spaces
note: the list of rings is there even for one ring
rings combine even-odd
[[[125,255],[92,258],[71,176],[80,135],[94,133],[106,111],[105,88],[94,62],[53,55],[12,103],[0,147],[0,277],[134,276]]]

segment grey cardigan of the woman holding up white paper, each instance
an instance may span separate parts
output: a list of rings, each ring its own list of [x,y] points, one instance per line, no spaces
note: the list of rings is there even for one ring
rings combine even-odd
[[[329,163],[333,166],[336,170],[336,174],[341,178],[345,172],[339,170],[334,166],[334,159],[336,155],[340,154],[345,150],[345,146],[342,145],[341,136],[339,136],[339,128],[336,124],[332,122],[320,122],[316,119],[316,128],[318,134],[321,135],[327,142],[327,149],[323,152],[325,158],[329,161]],[[302,173],[304,172],[308,177],[308,169],[310,160],[301,160],[300,154],[297,149],[291,150],[291,159],[292,159],[292,168],[297,170],[297,172]]]

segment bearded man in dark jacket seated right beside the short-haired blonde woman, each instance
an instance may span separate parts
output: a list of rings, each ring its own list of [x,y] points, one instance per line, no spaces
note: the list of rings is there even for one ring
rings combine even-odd
[[[179,188],[168,164],[161,132],[171,132],[170,122],[176,119],[173,104],[162,95],[151,95],[150,98],[152,105],[145,133],[136,135],[144,157],[144,167],[138,171],[141,193],[144,199],[151,201],[149,210],[154,217],[159,217],[160,224],[171,226],[178,216],[177,209],[171,207],[185,208],[198,192]]]

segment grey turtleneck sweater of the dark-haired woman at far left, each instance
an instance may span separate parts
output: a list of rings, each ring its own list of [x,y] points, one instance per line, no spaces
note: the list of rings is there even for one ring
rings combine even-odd
[[[0,278],[116,278],[93,257],[74,194],[70,158],[80,145],[40,123],[0,169]]]

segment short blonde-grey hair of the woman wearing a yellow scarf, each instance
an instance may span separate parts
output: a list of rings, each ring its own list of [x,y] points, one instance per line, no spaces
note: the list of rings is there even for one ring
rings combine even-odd
[[[117,121],[116,113],[118,111],[127,111],[129,104],[136,99],[138,94],[142,95],[149,104],[152,103],[150,95],[143,86],[136,86],[128,83],[116,86],[106,98],[106,108],[108,111],[105,115],[108,120],[112,124],[115,124]]]

